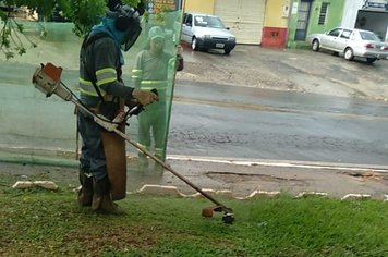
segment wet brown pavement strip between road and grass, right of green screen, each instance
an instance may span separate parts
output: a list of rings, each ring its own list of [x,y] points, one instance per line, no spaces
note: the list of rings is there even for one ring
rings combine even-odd
[[[287,192],[295,196],[316,192],[336,198],[361,194],[384,199],[388,194],[388,167],[184,157],[170,157],[168,162],[199,187],[231,191],[235,197],[259,191]],[[169,172],[165,172],[161,184],[186,191]]]

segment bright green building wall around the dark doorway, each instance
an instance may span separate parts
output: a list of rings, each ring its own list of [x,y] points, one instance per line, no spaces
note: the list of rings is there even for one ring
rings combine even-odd
[[[325,24],[319,25],[318,20],[323,2],[329,3],[329,9]],[[342,22],[344,2],[345,0],[313,0],[310,11],[306,35],[327,32],[334,27],[340,26]],[[295,4],[301,4],[301,0],[294,0],[291,5],[290,27],[288,37],[288,47],[290,48],[307,46],[306,41],[295,40],[295,32],[299,19],[298,9],[294,8]]]

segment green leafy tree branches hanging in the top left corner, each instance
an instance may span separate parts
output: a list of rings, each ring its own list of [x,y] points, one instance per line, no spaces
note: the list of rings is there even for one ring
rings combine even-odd
[[[141,0],[122,0],[129,5],[137,5]],[[0,50],[7,59],[13,58],[14,53],[23,54],[26,48],[21,40],[25,37],[33,47],[36,47],[23,33],[23,25],[13,17],[12,13],[19,8],[25,7],[29,13],[38,13],[39,16],[48,19],[54,8],[62,10],[63,15],[69,17],[73,24],[75,35],[82,37],[89,28],[99,22],[104,15],[108,0],[0,0]],[[36,21],[39,22],[39,21]]]

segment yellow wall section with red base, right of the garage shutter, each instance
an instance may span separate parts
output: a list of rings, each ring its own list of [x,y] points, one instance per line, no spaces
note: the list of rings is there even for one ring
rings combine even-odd
[[[263,28],[263,47],[283,48],[287,42],[290,0],[267,1]]]

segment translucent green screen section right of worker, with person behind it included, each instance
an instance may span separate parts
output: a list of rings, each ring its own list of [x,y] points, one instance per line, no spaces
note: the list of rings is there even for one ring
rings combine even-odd
[[[181,15],[180,10],[149,15],[144,21],[142,38],[130,54],[132,75],[137,73],[130,84],[141,89],[156,88],[159,94],[158,102],[145,107],[137,119],[132,119],[130,133],[162,160],[166,159]],[[144,155],[138,152],[138,157],[144,158]]]

